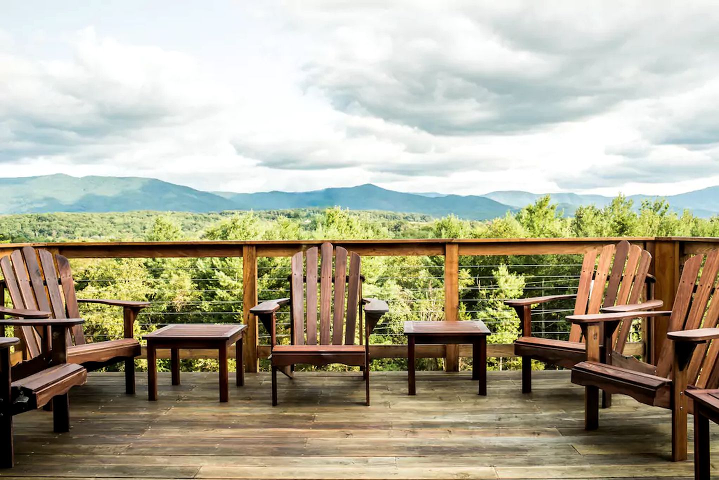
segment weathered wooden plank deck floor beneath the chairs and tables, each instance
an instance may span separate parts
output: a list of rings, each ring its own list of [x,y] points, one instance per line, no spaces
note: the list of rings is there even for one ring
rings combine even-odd
[[[693,478],[669,461],[669,411],[615,397],[600,430],[585,432],[583,390],[568,371],[536,372],[533,394],[518,372],[490,372],[488,396],[467,373],[372,373],[372,407],[359,374],[247,374],[217,401],[216,374],[185,373],[160,400],[123,393],[121,374],[91,374],[73,392],[70,433],[50,412],[15,417],[17,466],[0,476],[127,479],[609,479]],[[691,418],[691,417],[690,417]],[[712,450],[719,458],[719,427]],[[690,430],[690,441],[692,433]],[[690,452],[692,446],[690,444]]]

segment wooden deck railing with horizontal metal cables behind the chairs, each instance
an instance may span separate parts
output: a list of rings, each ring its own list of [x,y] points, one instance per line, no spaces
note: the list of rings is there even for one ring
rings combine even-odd
[[[336,245],[362,256],[365,296],[388,301],[390,313],[370,339],[374,358],[406,356],[404,320],[481,319],[490,330],[489,356],[513,354],[513,310],[503,300],[516,296],[572,293],[577,290],[582,254],[620,239],[423,239],[340,240]],[[635,238],[651,251],[656,296],[671,304],[683,259],[715,248],[718,239]],[[178,241],[34,244],[70,258],[79,297],[149,300],[137,319],[136,333],[170,323],[247,323],[245,360],[255,371],[269,354],[269,336],[249,313],[261,300],[288,297],[289,257],[321,241]],[[19,245],[0,246],[0,255]],[[114,263],[113,263],[114,262]],[[501,270],[501,272],[499,272]],[[498,273],[499,272],[499,273]],[[508,282],[508,279],[511,282]],[[511,295],[510,295],[511,294]],[[533,333],[567,338],[572,301],[541,305],[533,311]],[[114,335],[122,325],[116,310],[83,305],[86,331],[93,340]],[[278,313],[278,338],[288,341],[290,315]],[[648,333],[637,324],[630,341],[638,354],[656,350],[661,320]],[[644,336],[646,333],[647,336]],[[648,338],[651,333],[651,338]],[[649,340],[649,343],[647,341]],[[491,343],[500,341],[500,343]],[[419,356],[441,356],[448,369],[470,349],[432,347]],[[454,358],[452,358],[454,357]]]

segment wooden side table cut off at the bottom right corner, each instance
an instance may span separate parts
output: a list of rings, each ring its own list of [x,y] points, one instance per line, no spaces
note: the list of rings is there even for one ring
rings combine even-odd
[[[709,479],[709,420],[719,423],[719,389],[687,389],[684,393],[694,400],[694,478]]]

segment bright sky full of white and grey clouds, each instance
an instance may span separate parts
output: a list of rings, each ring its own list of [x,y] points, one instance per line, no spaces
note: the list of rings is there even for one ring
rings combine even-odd
[[[0,176],[719,185],[712,1],[0,3]]]

